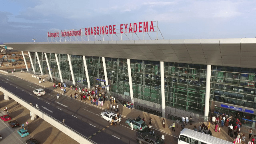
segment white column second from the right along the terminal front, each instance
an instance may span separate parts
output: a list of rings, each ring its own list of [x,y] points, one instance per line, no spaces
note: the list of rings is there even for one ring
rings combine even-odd
[[[164,62],[160,62],[162,117],[165,118],[165,94],[164,94]]]

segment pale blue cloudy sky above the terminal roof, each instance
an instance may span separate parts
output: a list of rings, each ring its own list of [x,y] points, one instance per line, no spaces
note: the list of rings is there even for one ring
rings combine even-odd
[[[255,0],[1,0],[0,43],[152,20],[164,39],[255,38],[255,14]]]

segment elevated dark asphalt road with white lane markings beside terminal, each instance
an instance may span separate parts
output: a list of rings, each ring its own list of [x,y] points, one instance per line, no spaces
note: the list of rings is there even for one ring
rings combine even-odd
[[[46,94],[38,97],[33,94],[33,90],[42,88],[42,86],[15,76],[0,74],[0,86],[26,102],[38,104],[40,110],[57,120],[65,119],[67,126],[88,138],[90,137],[98,144],[137,144],[138,135],[148,134],[147,131],[130,130],[130,127],[124,123],[125,118],[122,118],[121,125],[110,126],[109,122],[100,117],[100,113],[104,110],[76,99],[71,100],[66,95],[60,95],[60,99],[56,99],[57,92],[49,88],[44,88]],[[160,132],[156,130],[156,134],[160,134]],[[177,138],[169,134],[164,135],[166,144],[177,142]]]

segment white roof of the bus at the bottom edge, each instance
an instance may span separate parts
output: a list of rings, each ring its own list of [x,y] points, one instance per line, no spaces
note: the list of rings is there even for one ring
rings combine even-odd
[[[209,144],[233,144],[232,142],[228,142],[226,140],[222,140],[220,138],[216,138],[214,136],[210,136],[208,134],[204,134],[202,132],[197,132],[197,131],[194,131],[194,130],[190,130],[188,128],[184,128],[181,132],[180,132],[180,135],[184,135],[184,136],[189,136],[193,139],[198,139],[202,142],[205,142],[205,143],[209,143]]]

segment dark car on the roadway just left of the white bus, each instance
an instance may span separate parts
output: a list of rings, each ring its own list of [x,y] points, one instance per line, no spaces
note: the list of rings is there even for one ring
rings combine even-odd
[[[164,141],[153,135],[141,134],[137,137],[139,144],[164,144]]]

